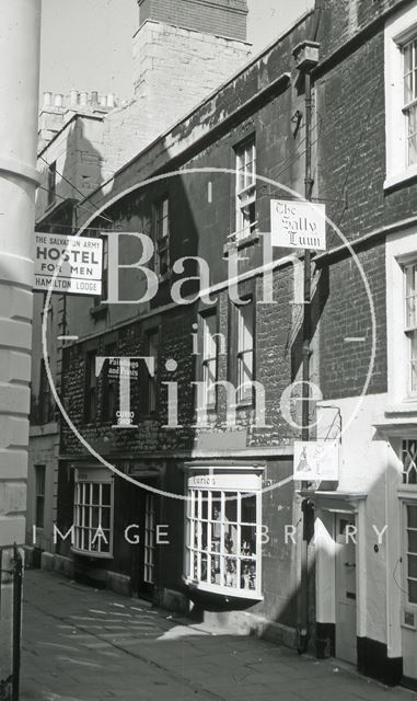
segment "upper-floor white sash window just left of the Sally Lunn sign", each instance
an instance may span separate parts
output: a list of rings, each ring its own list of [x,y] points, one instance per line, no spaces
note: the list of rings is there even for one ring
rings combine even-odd
[[[251,156],[248,151],[251,150]],[[245,138],[234,147],[235,159],[235,242],[240,243],[247,239],[251,239],[257,228],[256,217],[256,138],[255,134]],[[247,165],[252,165],[251,171],[247,171]],[[243,187],[241,187],[240,179],[243,176]],[[247,183],[247,180],[250,181]],[[251,209],[253,208],[253,217],[251,217]],[[244,210],[248,210],[248,219],[245,220]],[[252,220],[253,219],[253,220]]]

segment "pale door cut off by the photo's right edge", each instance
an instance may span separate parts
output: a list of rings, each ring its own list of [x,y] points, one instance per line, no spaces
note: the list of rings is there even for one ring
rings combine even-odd
[[[403,670],[417,679],[417,504],[404,505],[403,536]]]

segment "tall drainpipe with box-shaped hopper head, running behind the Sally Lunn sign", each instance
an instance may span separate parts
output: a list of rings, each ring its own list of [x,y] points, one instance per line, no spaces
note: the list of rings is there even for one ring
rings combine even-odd
[[[316,33],[316,32],[315,32]],[[299,44],[293,55],[299,70],[299,81],[304,82],[305,122],[305,199],[311,202],[314,181],[312,177],[312,80],[311,71],[318,62],[318,44],[305,41]],[[301,439],[310,440],[310,356],[311,356],[311,251],[304,251],[304,313],[302,346],[302,430]],[[309,541],[311,531],[311,506],[306,499],[301,504],[303,537],[300,544],[300,591],[298,597],[298,650],[305,653],[309,643]]]

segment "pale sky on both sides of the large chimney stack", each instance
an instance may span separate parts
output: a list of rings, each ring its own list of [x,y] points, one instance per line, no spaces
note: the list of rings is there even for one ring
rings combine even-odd
[[[248,41],[260,51],[311,0],[248,0]],[[132,93],[137,0],[42,0],[40,92]]]

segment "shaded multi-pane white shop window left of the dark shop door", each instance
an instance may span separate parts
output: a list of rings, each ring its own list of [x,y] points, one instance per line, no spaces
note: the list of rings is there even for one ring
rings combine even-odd
[[[81,476],[80,476],[81,475]],[[94,485],[99,486],[99,502],[95,503],[94,499]],[[109,491],[109,503],[108,505],[103,505],[103,486],[108,486]],[[81,487],[85,487],[81,490]],[[86,502],[85,498],[78,498],[78,495],[83,492],[83,495],[86,494],[86,491],[90,491],[90,501]],[[99,508],[99,526],[93,526],[93,508]],[[108,528],[104,528],[102,525],[102,510],[106,508],[109,510],[108,518]],[[79,516],[81,515],[81,519]],[[88,515],[88,518],[86,518]],[[88,524],[85,521],[89,521]],[[108,547],[105,545],[105,550],[102,550],[103,539],[102,537],[97,537],[99,549],[91,550],[92,541],[94,537],[91,535],[94,532],[96,535],[97,529],[102,528],[103,532],[107,537],[108,532]],[[86,531],[89,537],[89,547],[84,547],[84,532]],[[73,535],[74,535],[74,543],[71,550],[78,554],[86,555],[89,558],[97,558],[103,560],[109,560],[113,558],[113,547],[114,547],[114,480],[108,475],[106,470],[102,470],[101,468],[78,468],[76,469],[76,479],[74,479],[74,492],[73,492]],[[79,540],[80,536],[80,540]]]

